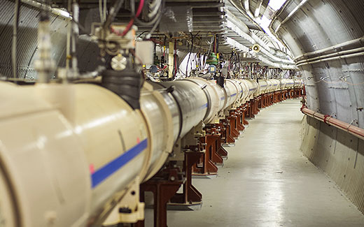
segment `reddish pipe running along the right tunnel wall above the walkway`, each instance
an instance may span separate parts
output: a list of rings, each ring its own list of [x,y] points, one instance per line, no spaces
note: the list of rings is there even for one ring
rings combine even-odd
[[[353,126],[352,124],[342,122],[339,119],[333,118],[329,115],[323,115],[319,112],[315,112],[314,110],[310,110],[304,106],[302,106],[301,111],[302,113],[304,113],[304,115],[307,115],[309,117],[314,117],[314,119],[318,119],[321,122],[325,122],[326,124],[335,126],[335,128],[337,129],[346,131],[351,135],[356,136],[361,140],[364,140],[364,129],[360,129],[357,126]]]

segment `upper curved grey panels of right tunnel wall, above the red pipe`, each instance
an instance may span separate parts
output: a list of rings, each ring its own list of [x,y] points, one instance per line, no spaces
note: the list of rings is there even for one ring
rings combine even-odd
[[[284,20],[300,2],[292,1],[281,13],[280,20]],[[295,57],[321,50],[364,36],[363,9],[364,1],[361,0],[307,1],[281,26],[278,34]],[[348,49],[362,46],[363,43],[358,43]],[[343,122],[356,119],[356,126],[364,128],[364,112],[357,110],[364,107],[363,62],[364,57],[352,57],[300,66],[308,107],[323,114],[334,113]],[[342,76],[349,76],[346,82],[339,79]],[[326,79],[318,82],[321,78]]]

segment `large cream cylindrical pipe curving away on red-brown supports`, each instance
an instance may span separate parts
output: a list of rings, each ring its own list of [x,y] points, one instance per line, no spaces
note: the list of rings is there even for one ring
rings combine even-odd
[[[179,137],[200,122],[216,122],[219,112],[262,89],[255,80],[225,80],[220,87],[202,78],[147,85],[141,110],[133,110],[97,85],[0,82],[0,207],[8,207],[0,212],[6,224],[97,224],[135,179],[158,172]]]

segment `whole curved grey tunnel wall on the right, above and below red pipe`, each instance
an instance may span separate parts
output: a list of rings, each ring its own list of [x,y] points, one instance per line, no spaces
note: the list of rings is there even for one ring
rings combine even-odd
[[[288,3],[273,29],[302,0]],[[295,57],[364,35],[364,1],[309,0],[281,25],[277,34]],[[363,43],[335,52],[363,47]],[[316,54],[310,57],[320,57]],[[300,66],[311,110],[364,128],[364,57],[350,57]],[[346,81],[340,80],[347,76]],[[322,78],[325,80],[320,81]],[[353,122],[353,120],[356,120]],[[315,119],[305,118],[302,152],[324,170],[364,212],[364,142]]]

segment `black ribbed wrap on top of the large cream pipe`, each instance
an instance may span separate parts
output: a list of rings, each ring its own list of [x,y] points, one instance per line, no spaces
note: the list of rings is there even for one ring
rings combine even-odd
[[[123,98],[134,110],[140,109],[140,90],[143,85],[141,75],[132,68],[123,71],[105,70],[102,72],[102,87]]]

